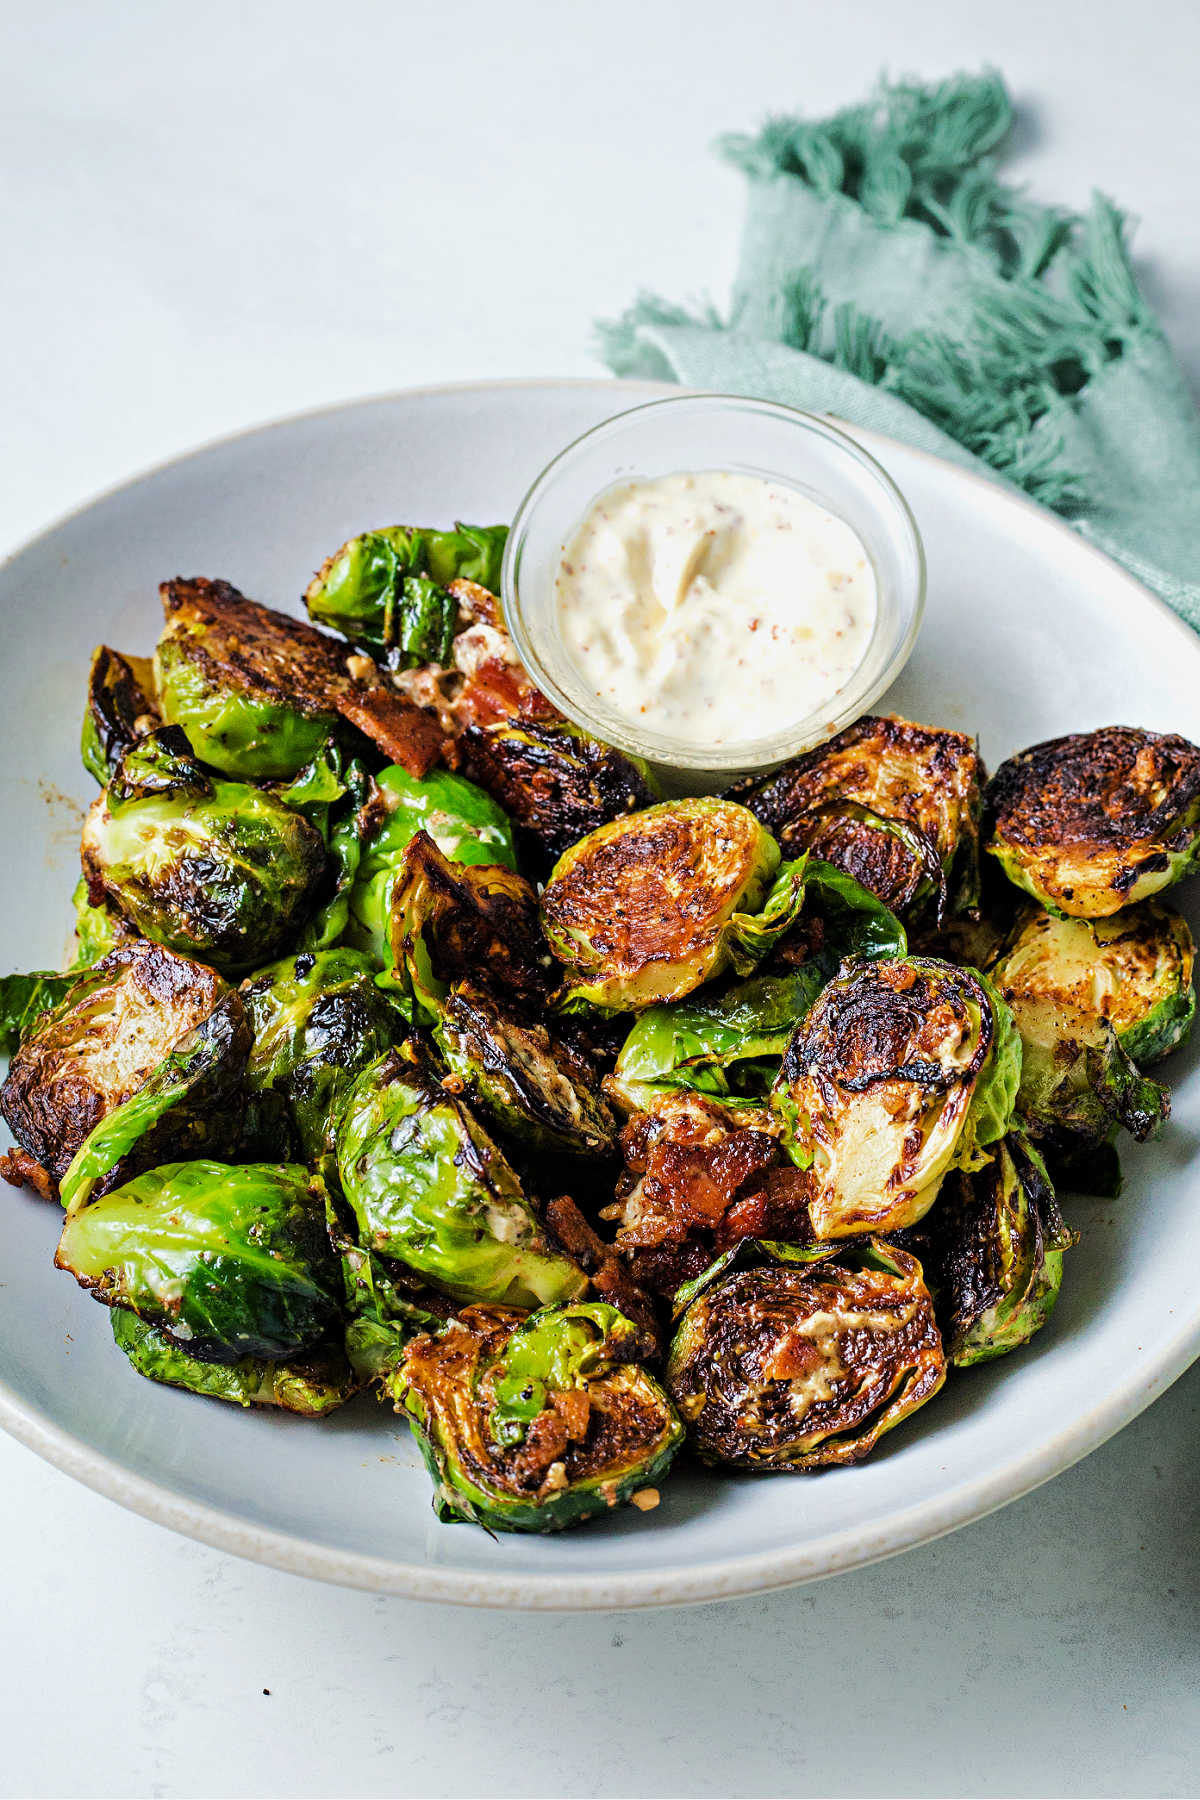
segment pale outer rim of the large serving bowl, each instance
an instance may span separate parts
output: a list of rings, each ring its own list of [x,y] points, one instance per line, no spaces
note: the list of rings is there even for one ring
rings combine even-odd
[[[81,518],[92,508],[131,490],[140,482],[193,463],[212,450],[252,437],[270,437],[273,432],[288,430],[304,421],[351,414],[369,407],[394,405],[403,400],[435,398],[443,394],[466,392],[558,392],[561,389],[588,389],[597,394],[678,394],[680,389],[666,382],[613,380],[606,376],[516,376],[504,380],[462,380],[439,382],[419,387],[398,387],[380,394],[333,401],[320,407],[308,407],[257,425],[248,425],[236,432],[219,434],[184,454],[162,457],[131,475],[90,495],[77,506],[67,509],[49,524],[31,533],[16,544],[0,562],[7,569],[27,551],[36,549],[43,540],[59,533],[65,526]],[[842,421],[846,423],[846,421]],[[900,448],[907,457],[916,457],[937,472],[950,472],[959,481],[968,482],[981,495],[993,497],[997,488],[1004,491],[1006,504],[1024,513],[1036,529],[1051,540],[1069,544],[1074,554],[1083,554],[1096,562],[1110,578],[1115,574],[1124,589],[1130,607],[1151,607],[1162,623],[1177,635],[1180,650],[1196,655],[1196,634],[1162,601],[1115,563],[1110,556],[1088,544],[1065,520],[1047,513],[1045,508],[1029,500],[1007,484],[979,470],[963,468],[945,457],[934,455],[910,445],[900,445],[867,427],[847,427],[855,437],[865,439],[880,454],[889,446]],[[277,1532],[237,1519],[219,1507],[205,1501],[187,1499],[169,1487],[135,1474],[124,1463],[104,1451],[92,1449],[76,1438],[63,1426],[58,1426],[40,1406],[22,1399],[13,1386],[0,1377],[0,1427],[13,1438],[34,1451],[45,1462],[81,1481],[85,1487],[128,1507],[131,1512],[210,1544],[234,1555],[248,1557],[268,1566],[304,1575],[309,1579],[335,1582],[347,1588],[363,1588],[376,1593],[394,1593],[407,1598],[450,1602],[461,1606],[486,1606],[497,1609],[524,1611],[613,1611],[624,1607],[648,1606],[691,1606],[741,1595],[766,1593],[790,1588],[801,1582],[838,1575],[851,1568],[864,1568],[903,1550],[932,1543],[948,1532],[970,1525],[975,1519],[995,1512],[1013,1499],[1020,1499],[1033,1489],[1061,1474],[1090,1451],[1099,1449],[1110,1436],[1121,1431],[1144,1408],[1148,1408],[1166,1388],[1177,1381],[1200,1355],[1200,1316],[1182,1321],[1177,1332],[1159,1350],[1150,1368],[1130,1370],[1126,1379],[1110,1388],[1103,1400],[1078,1413],[1067,1426],[1047,1438],[1036,1454],[1022,1453],[1002,1469],[981,1474],[973,1481],[959,1483],[934,1505],[919,1501],[901,1514],[891,1514],[878,1526],[842,1532],[824,1537],[820,1546],[797,1548],[793,1552],[752,1552],[745,1557],[730,1557],[721,1562],[705,1562],[702,1570],[637,1571],[613,1577],[599,1575],[507,1575],[497,1571],[457,1571],[430,1568],[421,1562],[399,1562],[390,1557],[371,1557],[360,1552],[340,1552],[327,1544],[317,1544],[293,1534]]]

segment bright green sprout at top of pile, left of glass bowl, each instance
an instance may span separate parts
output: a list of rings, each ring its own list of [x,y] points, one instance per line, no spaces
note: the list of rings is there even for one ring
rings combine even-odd
[[[446,592],[455,580],[500,590],[507,526],[425,531],[385,526],[363,531],[329,556],[308,585],[309,617],[389,668],[448,662],[459,607]]]

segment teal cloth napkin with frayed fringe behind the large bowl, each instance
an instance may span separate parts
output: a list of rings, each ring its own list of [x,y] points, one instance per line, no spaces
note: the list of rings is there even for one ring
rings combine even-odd
[[[1200,414],[1117,209],[997,176],[997,74],[883,83],[721,140],[750,182],[729,317],[642,295],[615,374],[833,412],[1061,513],[1200,628]]]

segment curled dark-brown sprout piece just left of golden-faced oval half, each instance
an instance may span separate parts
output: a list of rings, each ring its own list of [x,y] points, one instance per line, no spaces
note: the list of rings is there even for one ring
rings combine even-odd
[[[390,976],[428,1024],[452,983],[470,979],[504,1001],[542,1008],[551,956],[538,898],[524,877],[495,864],[450,862],[426,832],[407,844],[389,920]]]

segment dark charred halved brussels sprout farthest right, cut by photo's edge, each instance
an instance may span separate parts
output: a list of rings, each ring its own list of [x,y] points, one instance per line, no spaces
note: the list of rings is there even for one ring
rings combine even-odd
[[[1200,749],[1106,725],[1034,743],[988,787],[988,851],[1011,882],[1074,918],[1169,887],[1200,855]]]

